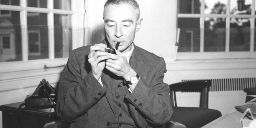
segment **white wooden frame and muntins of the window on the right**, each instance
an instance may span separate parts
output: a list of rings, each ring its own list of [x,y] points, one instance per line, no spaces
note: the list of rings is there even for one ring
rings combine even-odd
[[[230,14],[230,0],[227,0],[226,14],[204,14],[204,1],[201,1],[200,14],[180,14],[179,4],[177,4],[177,20],[178,18],[200,18],[200,51],[199,52],[178,52],[177,60],[186,59],[236,59],[236,58],[256,58],[256,51],[254,51],[254,29],[255,29],[255,1],[252,0],[252,13],[250,15],[232,15]],[[179,0],[178,0],[179,3]],[[206,17],[226,18],[226,46],[224,52],[204,52],[204,20]],[[230,18],[250,18],[250,51],[230,52],[229,38],[230,38]],[[178,25],[178,24],[177,24]],[[177,40],[178,42],[178,40]]]

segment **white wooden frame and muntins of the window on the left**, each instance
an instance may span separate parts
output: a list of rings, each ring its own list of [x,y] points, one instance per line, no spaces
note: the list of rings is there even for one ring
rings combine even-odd
[[[26,0],[20,0],[20,6],[2,5],[1,10],[20,11],[20,25],[22,37],[22,60],[13,62],[0,62],[0,73],[16,72],[24,70],[44,69],[64,66],[68,60],[66,58],[54,58],[54,14],[70,14],[72,28],[72,50],[83,45],[83,36],[79,35],[78,30],[82,29],[79,16],[84,15],[84,8],[81,8],[82,0],[71,0],[71,10],[61,10],[53,8],[53,0],[48,0],[47,8],[27,7]],[[80,8],[80,10],[79,10]],[[47,13],[48,15],[48,59],[28,60],[28,29],[27,29],[27,12]]]

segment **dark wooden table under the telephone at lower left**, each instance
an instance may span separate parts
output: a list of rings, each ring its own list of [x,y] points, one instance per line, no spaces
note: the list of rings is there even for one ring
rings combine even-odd
[[[58,120],[55,108],[52,106],[35,106],[22,110],[20,116],[19,105],[24,102],[5,104],[0,106],[2,111],[3,128],[43,128],[48,122]],[[22,117],[22,118],[21,118]],[[21,120],[22,119],[22,120]]]

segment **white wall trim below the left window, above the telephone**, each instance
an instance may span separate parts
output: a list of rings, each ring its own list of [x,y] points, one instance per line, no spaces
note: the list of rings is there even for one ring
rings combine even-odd
[[[56,87],[63,67],[0,73],[0,92],[36,87],[45,78]]]

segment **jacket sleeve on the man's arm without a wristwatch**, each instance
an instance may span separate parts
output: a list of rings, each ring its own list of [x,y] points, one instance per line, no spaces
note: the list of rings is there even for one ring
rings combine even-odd
[[[72,51],[58,86],[57,115],[67,122],[79,119],[106,93],[106,88],[102,88],[90,71],[82,78],[80,68],[84,67],[77,60]]]

